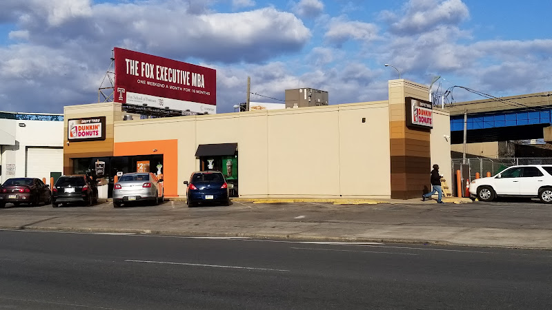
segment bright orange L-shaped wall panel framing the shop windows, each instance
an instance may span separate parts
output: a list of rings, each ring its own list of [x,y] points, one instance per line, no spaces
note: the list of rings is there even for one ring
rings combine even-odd
[[[113,147],[113,156],[151,154],[163,154],[165,196],[178,196],[178,140],[117,142]]]

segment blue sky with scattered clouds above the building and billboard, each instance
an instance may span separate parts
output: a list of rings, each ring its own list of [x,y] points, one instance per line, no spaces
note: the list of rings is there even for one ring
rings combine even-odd
[[[246,101],[248,76],[250,100],[272,103],[299,87],[331,105],[386,100],[397,70],[424,85],[441,76],[437,93],[547,92],[551,11],[541,0],[1,0],[0,110],[98,102],[114,47],[217,70],[218,113]]]

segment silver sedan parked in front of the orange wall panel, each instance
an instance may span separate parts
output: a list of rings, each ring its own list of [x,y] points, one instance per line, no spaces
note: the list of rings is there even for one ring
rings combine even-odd
[[[148,200],[154,205],[158,205],[159,200],[164,201],[163,179],[151,172],[133,172],[123,174],[113,185],[113,207],[140,200]]]

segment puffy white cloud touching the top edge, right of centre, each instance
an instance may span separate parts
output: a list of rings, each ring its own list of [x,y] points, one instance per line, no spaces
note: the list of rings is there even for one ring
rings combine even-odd
[[[437,25],[457,25],[469,18],[468,7],[462,0],[411,0],[406,4],[404,17],[391,25],[398,34],[421,33]],[[383,14],[386,18],[393,15]]]

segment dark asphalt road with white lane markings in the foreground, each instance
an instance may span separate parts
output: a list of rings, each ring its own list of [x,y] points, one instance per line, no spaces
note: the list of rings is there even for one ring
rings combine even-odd
[[[552,252],[0,231],[0,308],[550,309]]]

